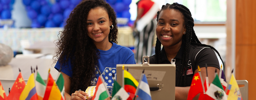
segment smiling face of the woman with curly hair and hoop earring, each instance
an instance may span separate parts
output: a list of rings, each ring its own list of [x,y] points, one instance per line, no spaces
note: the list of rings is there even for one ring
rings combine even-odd
[[[91,9],[87,17],[88,36],[93,39],[94,43],[109,42],[110,26],[112,19],[109,18],[107,11],[101,7]]]

